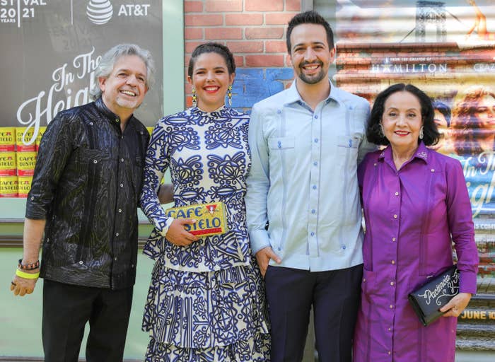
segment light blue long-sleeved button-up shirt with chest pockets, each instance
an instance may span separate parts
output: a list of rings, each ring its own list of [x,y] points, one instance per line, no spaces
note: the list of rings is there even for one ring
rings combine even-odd
[[[325,271],[363,262],[357,166],[375,150],[366,141],[369,104],[330,87],[314,112],[296,81],[252,107],[247,223],[252,251],[271,246],[281,257],[271,265]]]

